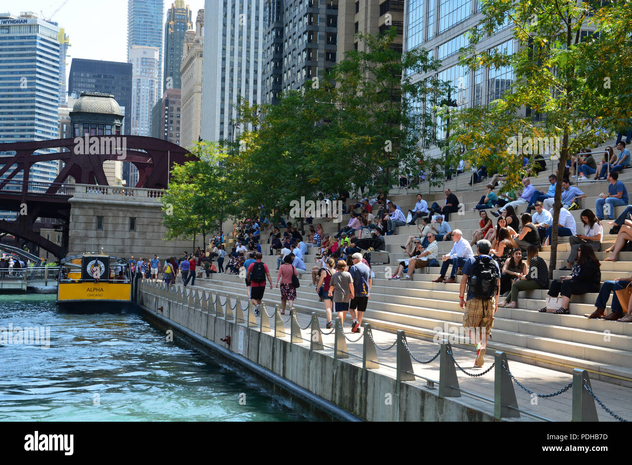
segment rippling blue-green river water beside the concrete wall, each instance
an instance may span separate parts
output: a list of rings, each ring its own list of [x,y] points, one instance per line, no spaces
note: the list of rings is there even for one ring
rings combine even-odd
[[[141,314],[61,313],[54,301],[0,295],[0,421],[306,419],[256,380],[168,342]],[[18,327],[36,326],[27,344]]]

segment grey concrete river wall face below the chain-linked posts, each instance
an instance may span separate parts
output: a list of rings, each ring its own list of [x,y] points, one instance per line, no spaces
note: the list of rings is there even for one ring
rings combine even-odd
[[[184,299],[186,301],[186,299]],[[140,289],[140,304],[152,323],[171,328],[179,340],[204,354],[257,375],[273,392],[289,395],[319,411],[320,417],[346,421],[495,421],[489,403],[469,397],[439,399],[421,380],[397,383],[392,373],[363,369],[359,359],[334,359],[332,349],[310,350],[274,337],[258,327],[218,318],[188,305],[173,290]],[[162,308],[162,314],[157,312]],[[289,332],[289,328],[285,329]],[[243,355],[236,353],[240,333]],[[220,338],[231,336],[231,346]]]

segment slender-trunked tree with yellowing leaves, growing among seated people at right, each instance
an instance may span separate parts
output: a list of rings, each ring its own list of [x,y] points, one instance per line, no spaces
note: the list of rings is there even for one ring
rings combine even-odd
[[[621,6],[599,7],[598,11],[603,13],[606,8]],[[585,44],[581,31],[594,26],[595,17],[608,16],[593,16],[587,3],[576,0],[483,0],[481,9],[485,20],[470,31],[470,47],[461,55],[461,63],[468,66],[470,72],[481,66],[492,69],[509,66],[516,80],[501,100],[459,111],[455,120],[460,129],[454,133],[453,141],[464,147],[465,157],[473,163],[502,170],[508,176],[507,187],[518,187],[524,172],[523,156],[533,161],[533,148],[520,147],[523,154],[516,156],[511,149],[511,138],[522,137],[532,142],[542,137],[554,138],[559,140],[559,150],[554,146],[552,150],[549,147],[549,151],[552,156],[559,156],[557,179],[561,180],[570,154],[604,140],[602,118],[599,118],[602,109],[597,102],[587,101],[586,96],[595,93],[590,69],[602,59],[599,54],[604,52],[605,42],[597,40]],[[477,51],[481,40],[507,23],[513,28],[515,53],[498,48]],[[520,116],[525,109],[526,116]],[[561,189],[558,182],[551,275],[557,260]]]

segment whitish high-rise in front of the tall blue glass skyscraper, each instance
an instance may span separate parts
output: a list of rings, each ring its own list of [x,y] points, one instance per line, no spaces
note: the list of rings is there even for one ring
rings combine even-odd
[[[159,50],[131,46],[131,134],[152,135],[152,109],[159,99]]]

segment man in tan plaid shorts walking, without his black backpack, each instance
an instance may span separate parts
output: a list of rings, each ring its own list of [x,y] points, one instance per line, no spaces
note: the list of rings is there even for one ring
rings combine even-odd
[[[483,356],[487,351],[487,336],[492,332],[494,326],[494,313],[498,309],[498,294],[501,289],[501,271],[498,263],[489,256],[492,248],[489,240],[481,239],[477,242],[478,256],[468,258],[463,265],[463,276],[461,276],[461,287],[459,288],[459,306],[465,310],[463,315],[463,330],[470,333],[470,340],[477,349],[474,368],[480,368],[485,363]],[[475,274],[475,263],[477,260],[487,258],[498,271],[498,282],[496,283],[495,295],[489,299],[480,299],[474,295],[474,285],[471,282]],[[465,295],[465,285],[468,285],[468,294]],[[483,337],[483,330],[485,335]]]

